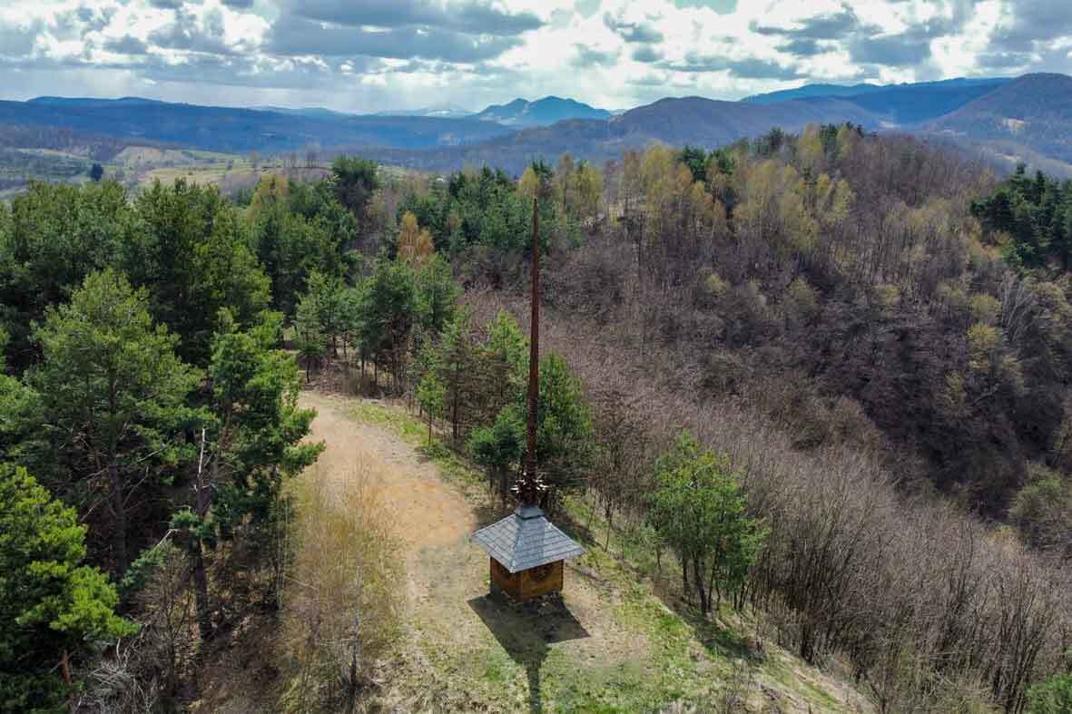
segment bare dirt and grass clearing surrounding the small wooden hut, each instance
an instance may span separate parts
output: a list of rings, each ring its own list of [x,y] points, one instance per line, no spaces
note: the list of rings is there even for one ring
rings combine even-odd
[[[394,711],[867,711],[850,687],[776,646],[755,652],[741,620],[669,609],[568,518],[560,525],[587,553],[567,565],[562,607],[488,598],[488,559],[470,535],[506,511],[479,474],[430,448],[399,406],[312,392],[302,403],[316,408],[313,437],[327,447],[318,468],[345,478],[356,458],[383,461],[407,579],[406,631],[382,696]],[[725,708],[741,699],[747,710]]]

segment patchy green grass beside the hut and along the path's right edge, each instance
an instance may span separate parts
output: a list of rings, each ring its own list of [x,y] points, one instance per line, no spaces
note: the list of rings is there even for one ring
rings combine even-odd
[[[429,442],[427,423],[412,413],[360,400],[348,406],[347,415],[397,435],[433,461],[466,499],[487,505],[483,474],[434,433]],[[598,537],[607,533],[606,523],[590,502],[568,499],[566,510],[563,527],[587,546],[567,575],[567,606],[592,631],[548,644],[527,621],[504,623],[482,615],[486,622],[476,624],[486,626],[463,633],[458,613],[445,610],[449,603],[418,613],[416,645],[432,670],[426,676],[435,683],[436,697],[456,697],[447,700],[448,709],[535,711],[535,687],[539,711],[547,712],[654,712],[672,702],[684,711],[724,711],[715,702],[731,694],[750,693],[753,703],[770,703],[756,686],[762,684],[784,695],[781,711],[846,710],[824,688],[836,685],[823,674],[773,645],[764,656],[754,654],[742,637],[751,628],[743,615],[727,607],[708,621],[684,605],[675,604],[676,611],[668,608],[653,579],[645,577],[654,575],[655,559],[642,527],[614,531],[617,553],[611,554]],[[449,585],[443,592],[449,593]]]

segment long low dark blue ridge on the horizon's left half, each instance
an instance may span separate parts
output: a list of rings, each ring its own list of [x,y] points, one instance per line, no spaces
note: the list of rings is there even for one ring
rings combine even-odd
[[[326,110],[325,110],[326,111]],[[490,121],[433,117],[310,116],[272,110],[172,104],[136,98],[39,98],[0,102],[0,124],[51,127],[131,140],[214,151],[294,151],[330,147],[405,149],[459,146],[509,130]]]

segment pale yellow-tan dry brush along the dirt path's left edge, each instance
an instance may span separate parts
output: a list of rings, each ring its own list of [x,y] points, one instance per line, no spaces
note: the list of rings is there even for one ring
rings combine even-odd
[[[295,485],[283,711],[352,708],[398,637],[404,574],[377,486],[381,467],[362,455],[344,478],[314,466]]]

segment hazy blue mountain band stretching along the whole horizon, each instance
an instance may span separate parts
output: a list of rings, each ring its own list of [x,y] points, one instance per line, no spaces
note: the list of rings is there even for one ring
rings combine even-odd
[[[43,96],[0,102],[0,146],[17,148],[26,139],[13,136],[63,128],[128,144],[228,152],[361,149],[381,161],[419,168],[487,163],[516,172],[533,157],[553,159],[563,151],[598,161],[655,140],[713,148],[773,127],[795,132],[808,123],[845,121],[873,131],[941,136],[1007,163],[1046,161],[1048,170],[1072,170],[1067,165],[1072,164],[1072,77],[1059,74],[805,85],[738,102],[666,98],[619,115],[557,96],[518,99],[467,115],[459,107],[347,115],[315,107]]]

